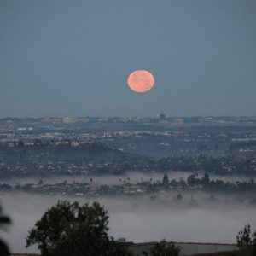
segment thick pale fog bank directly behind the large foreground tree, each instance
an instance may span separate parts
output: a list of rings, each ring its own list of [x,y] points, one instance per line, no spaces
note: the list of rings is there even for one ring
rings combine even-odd
[[[172,196],[172,195],[170,195]],[[189,195],[188,195],[189,196]],[[57,196],[25,193],[0,194],[4,212],[13,219],[8,232],[0,236],[9,243],[13,253],[36,253],[36,247],[26,248],[27,231],[41,218],[48,207],[60,199]],[[62,198],[63,199],[63,198]],[[87,199],[65,198],[82,203]],[[178,206],[160,201],[141,199],[97,198],[108,209],[110,234],[126,241],[198,241],[235,243],[236,234],[247,223],[256,229],[256,207],[234,203],[202,203]],[[170,200],[172,201],[172,199]]]

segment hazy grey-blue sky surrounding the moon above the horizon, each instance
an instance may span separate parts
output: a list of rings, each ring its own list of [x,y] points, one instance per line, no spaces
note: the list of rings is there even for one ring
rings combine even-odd
[[[0,116],[256,115],[255,0],[0,0]],[[145,94],[135,69],[154,73]]]

